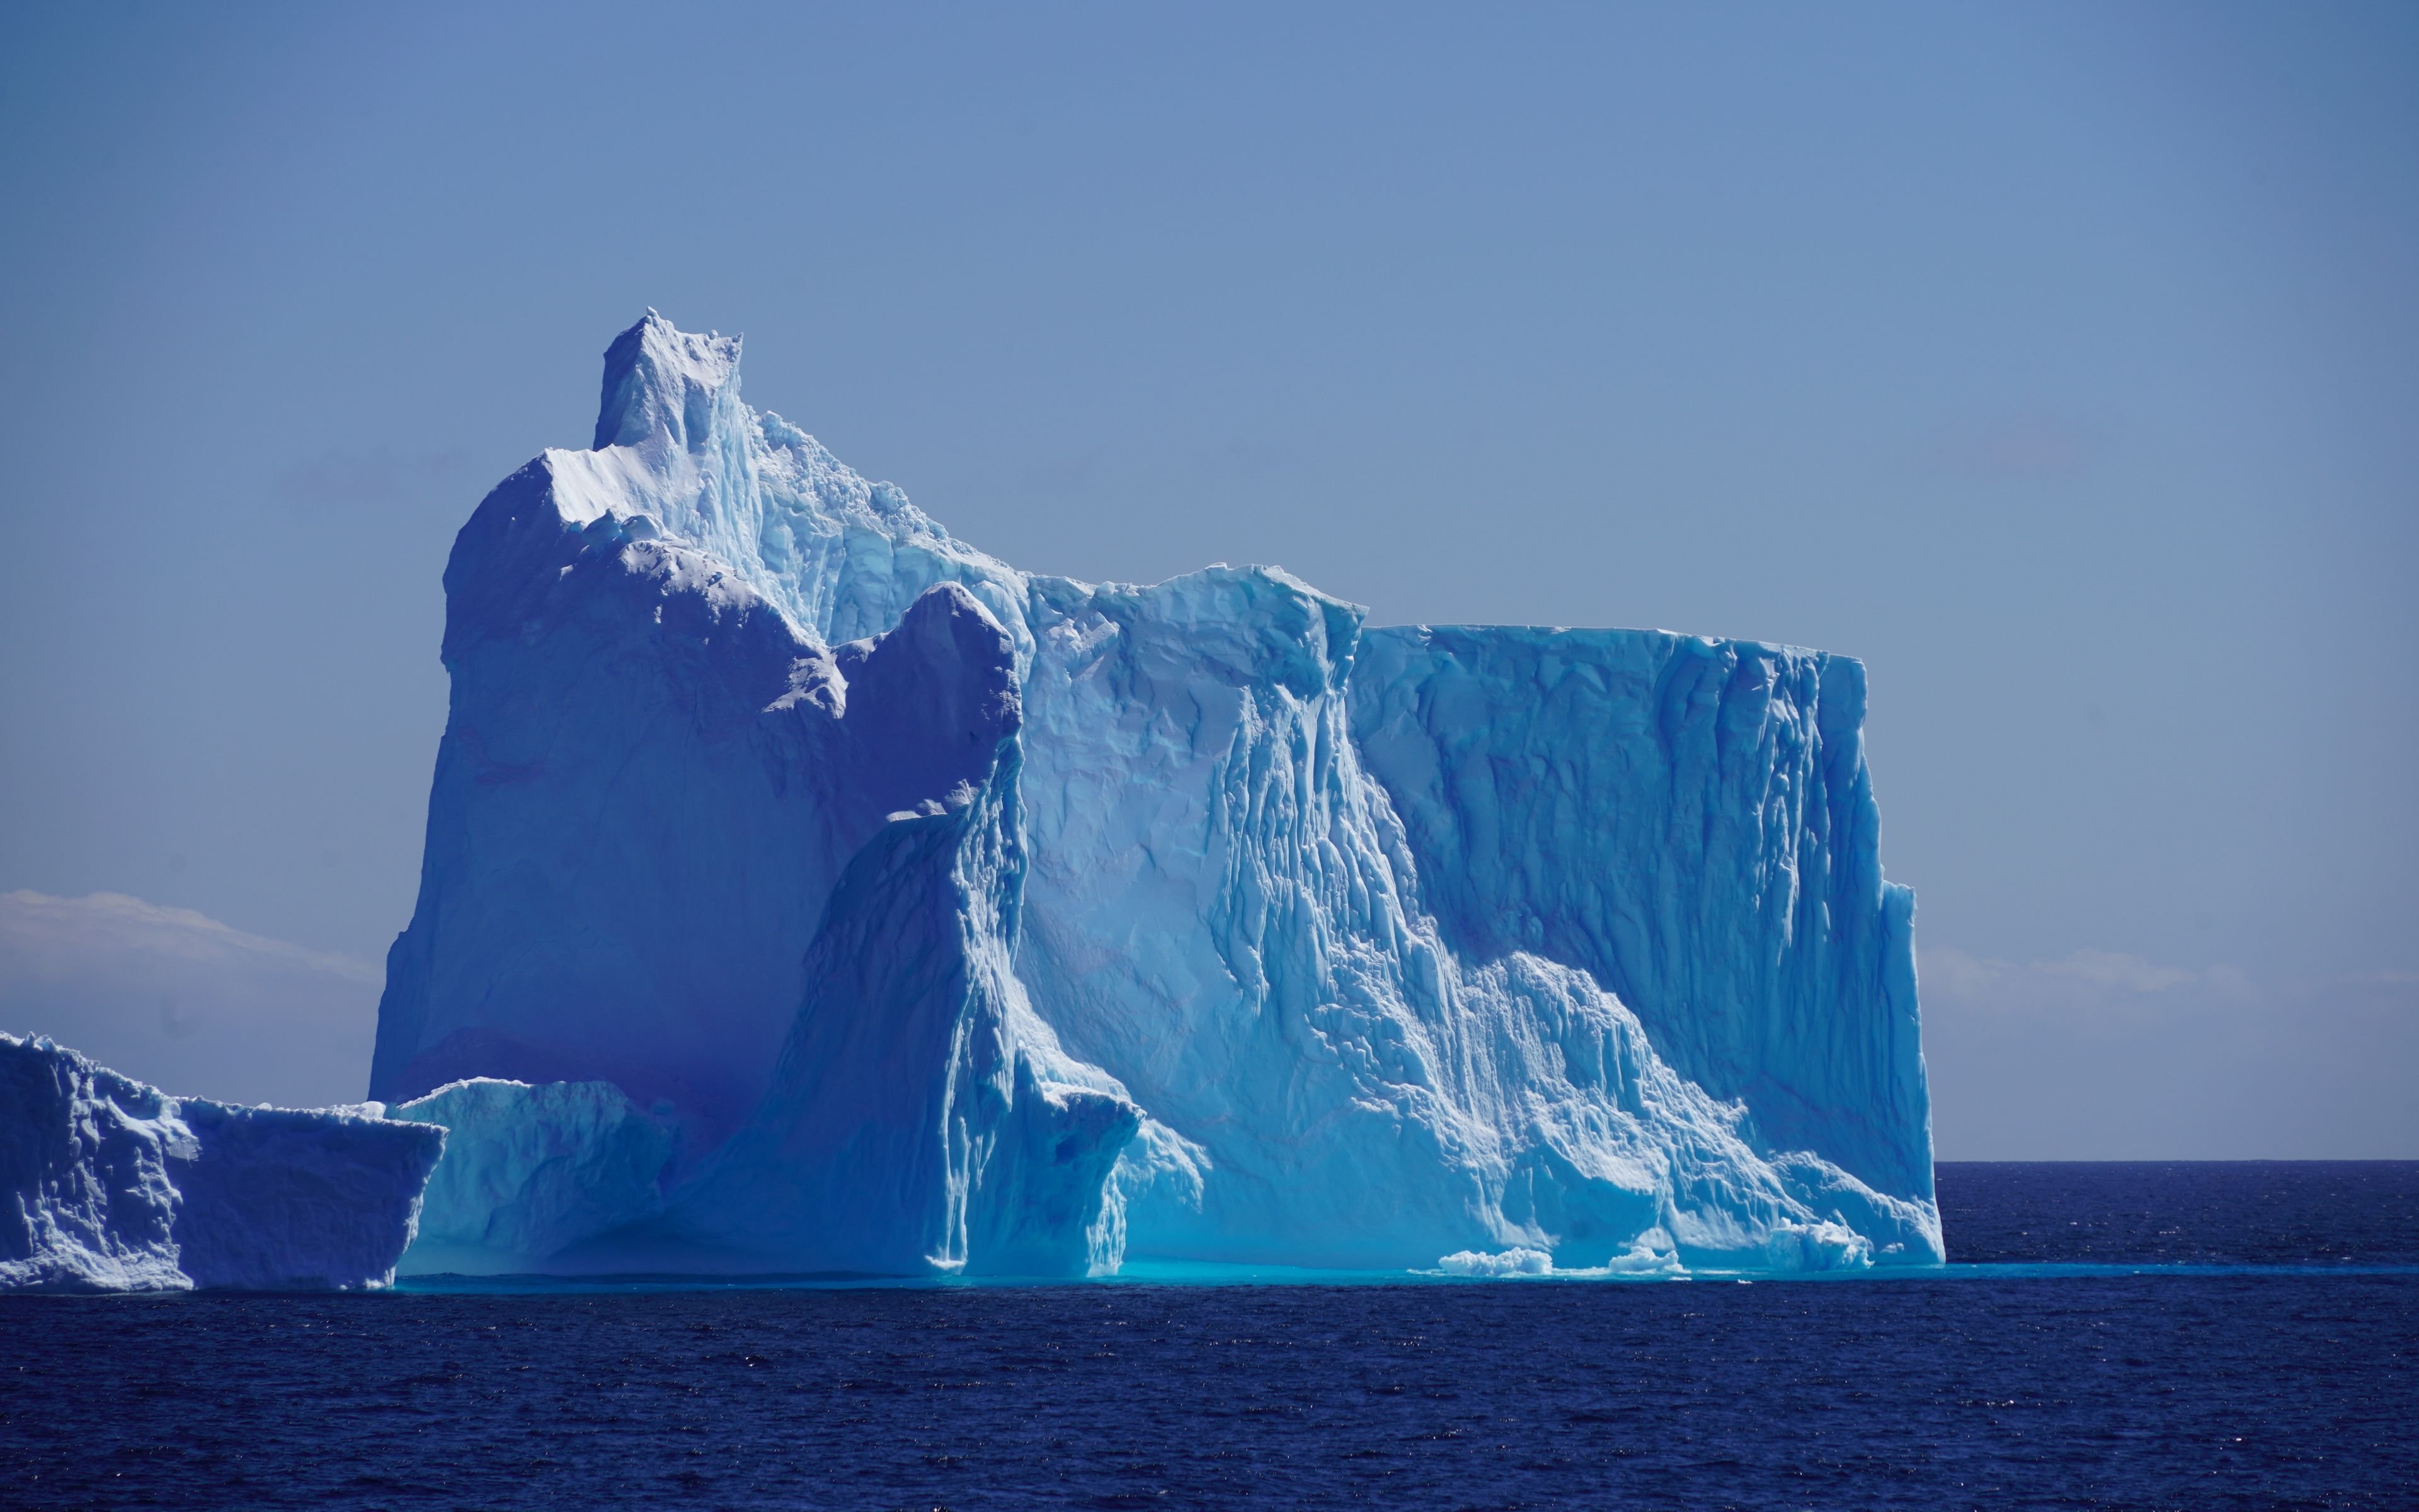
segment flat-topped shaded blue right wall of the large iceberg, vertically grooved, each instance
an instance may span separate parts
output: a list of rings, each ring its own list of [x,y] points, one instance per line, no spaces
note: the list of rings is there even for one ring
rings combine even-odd
[[[1851,658],[1659,631],[1379,629],[1352,733],[1456,951],[1638,1011],[1778,1149],[1930,1198],[1913,895],[1882,881]]]

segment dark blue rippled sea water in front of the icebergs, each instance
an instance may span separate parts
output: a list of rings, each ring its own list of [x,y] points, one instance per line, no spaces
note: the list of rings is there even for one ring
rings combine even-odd
[[[2419,1164],[1807,1282],[0,1299],[5,1507],[2419,1507]]]

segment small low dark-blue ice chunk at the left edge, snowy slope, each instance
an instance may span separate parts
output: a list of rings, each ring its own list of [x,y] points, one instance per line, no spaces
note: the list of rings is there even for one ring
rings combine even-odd
[[[0,1292],[382,1287],[445,1132],[174,1098],[0,1033]]]

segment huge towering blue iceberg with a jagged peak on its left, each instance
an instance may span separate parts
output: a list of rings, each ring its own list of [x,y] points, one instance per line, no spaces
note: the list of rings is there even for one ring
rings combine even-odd
[[[1023,573],[738,360],[455,542],[406,1270],[1940,1258],[1855,660]]]

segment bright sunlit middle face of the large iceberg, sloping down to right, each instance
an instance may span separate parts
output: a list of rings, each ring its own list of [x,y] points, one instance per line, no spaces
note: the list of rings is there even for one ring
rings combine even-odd
[[[1350,733],[1359,610],[1268,569],[1030,602],[1018,970],[1207,1166],[1197,1200],[1130,1207],[1135,1253],[1800,1268],[1824,1224],[1938,1253],[1928,1164],[1875,1190],[1792,1159],[1577,963],[1447,936]]]

